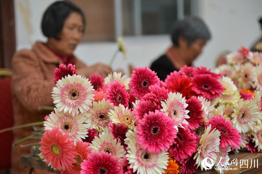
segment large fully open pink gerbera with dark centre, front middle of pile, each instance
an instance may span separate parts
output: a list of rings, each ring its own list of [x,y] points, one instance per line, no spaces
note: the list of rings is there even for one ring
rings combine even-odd
[[[149,112],[136,127],[136,140],[143,150],[158,154],[173,144],[177,133],[174,126],[175,122],[163,112]]]

